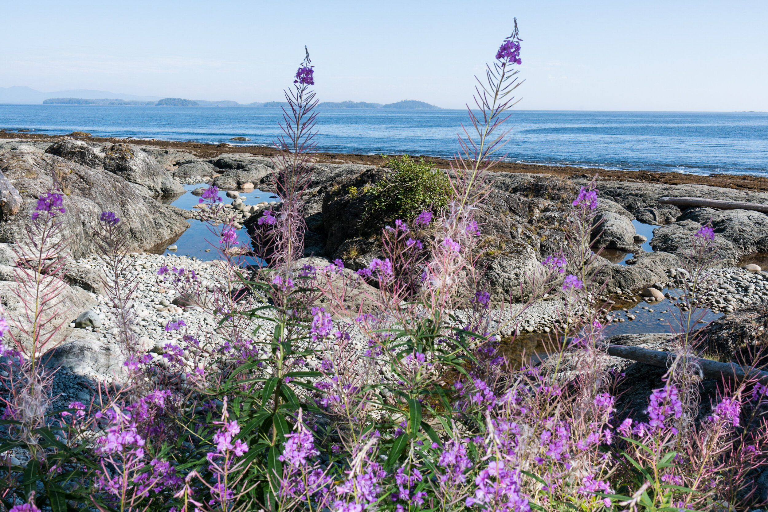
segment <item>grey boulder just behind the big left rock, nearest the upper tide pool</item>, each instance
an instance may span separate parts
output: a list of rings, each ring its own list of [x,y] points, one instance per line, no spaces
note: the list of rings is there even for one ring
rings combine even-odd
[[[104,153],[104,169],[153,194],[180,194],[184,187],[151,156],[127,144],[114,144]]]

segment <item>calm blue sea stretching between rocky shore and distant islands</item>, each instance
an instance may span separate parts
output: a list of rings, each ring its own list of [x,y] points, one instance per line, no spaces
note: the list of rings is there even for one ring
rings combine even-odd
[[[0,128],[82,130],[205,143],[271,145],[279,108],[0,105]],[[463,110],[321,109],[319,150],[452,156]],[[768,176],[768,113],[513,110],[506,159],[550,165]],[[503,154],[502,153],[502,154]]]

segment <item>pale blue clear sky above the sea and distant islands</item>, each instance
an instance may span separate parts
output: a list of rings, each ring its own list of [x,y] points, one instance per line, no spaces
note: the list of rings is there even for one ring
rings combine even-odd
[[[768,110],[768,2],[3,2],[0,87],[459,108],[517,16],[525,110]]]

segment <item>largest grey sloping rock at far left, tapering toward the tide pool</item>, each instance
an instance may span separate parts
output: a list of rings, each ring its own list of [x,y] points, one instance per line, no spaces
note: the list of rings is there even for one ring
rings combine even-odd
[[[0,171],[21,191],[24,200],[18,214],[0,216],[2,242],[14,242],[22,237],[38,197],[53,188],[53,176],[61,189],[68,192],[64,199],[67,212],[62,218],[65,238],[74,258],[98,251],[94,231],[101,212],[114,212],[125,222],[129,244],[139,251],[154,247],[158,241],[177,237],[189,227],[179,215],[154,199],[142,196],[120,176],[48,153],[2,153]]]

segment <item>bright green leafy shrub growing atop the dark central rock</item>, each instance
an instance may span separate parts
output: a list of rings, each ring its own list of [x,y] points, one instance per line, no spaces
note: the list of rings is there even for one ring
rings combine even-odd
[[[423,210],[437,212],[448,204],[452,195],[448,176],[433,169],[432,162],[408,155],[384,159],[393,172],[368,190],[373,199],[366,215],[409,221]]]

